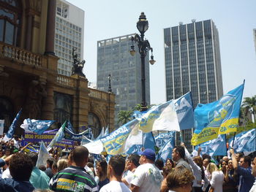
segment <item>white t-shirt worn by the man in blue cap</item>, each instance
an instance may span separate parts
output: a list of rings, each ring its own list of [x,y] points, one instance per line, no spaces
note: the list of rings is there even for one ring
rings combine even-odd
[[[142,164],[135,170],[131,184],[140,187],[139,191],[160,191],[163,177],[154,164]]]

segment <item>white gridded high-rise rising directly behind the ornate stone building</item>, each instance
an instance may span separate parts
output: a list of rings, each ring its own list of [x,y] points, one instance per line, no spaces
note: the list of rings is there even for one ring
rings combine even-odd
[[[72,48],[83,59],[84,11],[65,0],[56,1],[54,52],[60,58],[58,73],[72,74]]]

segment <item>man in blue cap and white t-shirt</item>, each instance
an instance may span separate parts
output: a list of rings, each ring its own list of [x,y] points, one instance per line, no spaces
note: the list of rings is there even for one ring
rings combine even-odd
[[[163,178],[157,166],[154,165],[156,158],[154,150],[146,149],[138,154],[140,155],[140,166],[135,170],[131,181],[132,192],[160,191]]]

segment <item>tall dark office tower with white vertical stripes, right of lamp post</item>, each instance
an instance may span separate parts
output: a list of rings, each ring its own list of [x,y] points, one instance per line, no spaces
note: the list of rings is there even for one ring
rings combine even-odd
[[[219,34],[212,20],[164,29],[167,101],[192,92],[193,106],[218,100],[223,94]],[[184,141],[190,145],[192,130]],[[191,145],[189,147],[191,149]]]

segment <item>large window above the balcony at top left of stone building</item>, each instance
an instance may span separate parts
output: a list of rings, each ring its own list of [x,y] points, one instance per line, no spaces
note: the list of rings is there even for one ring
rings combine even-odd
[[[0,42],[18,46],[22,6],[17,0],[0,0]]]

